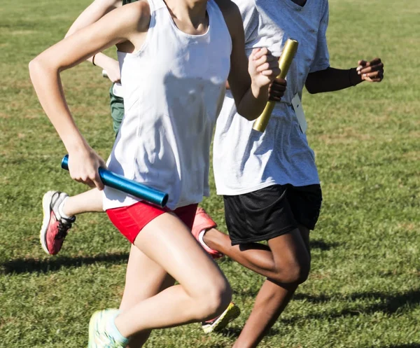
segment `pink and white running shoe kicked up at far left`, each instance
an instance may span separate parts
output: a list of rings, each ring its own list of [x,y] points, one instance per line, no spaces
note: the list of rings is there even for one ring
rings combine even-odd
[[[42,249],[48,255],[56,255],[60,251],[71,224],[76,221],[76,216],[64,218],[60,214],[59,206],[66,197],[69,195],[59,191],[48,191],[43,196],[43,222],[39,239]]]

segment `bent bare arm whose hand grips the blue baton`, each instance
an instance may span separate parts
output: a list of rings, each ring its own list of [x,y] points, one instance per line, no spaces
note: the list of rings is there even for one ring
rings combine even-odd
[[[117,8],[29,63],[38,99],[69,153],[71,177],[99,190],[104,185],[98,168],[105,167],[105,163],[80,134],[66,104],[59,73],[118,43],[130,41],[133,50],[139,49],[146,38],[150,18],[150,8],[145,1]]]

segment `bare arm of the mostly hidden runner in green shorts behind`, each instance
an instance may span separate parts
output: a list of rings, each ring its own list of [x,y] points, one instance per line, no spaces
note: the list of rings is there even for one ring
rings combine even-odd
[[[104,17],[106,13],[115,10],[122,6],[122,4],[122,0],[94,0],[73,22],[66,37],[97,22],[97,20]],[[92,62],[92,57],[87,58],[87,60]],[[106,70],[106,73],[112,82],[120,81],[120,65],[117,60],[104,55],[104,53],[97,53],[94,56],[94,64]]]

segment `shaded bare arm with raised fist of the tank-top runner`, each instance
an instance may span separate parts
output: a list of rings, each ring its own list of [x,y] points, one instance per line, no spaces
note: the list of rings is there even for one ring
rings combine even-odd
[[[232,38],[228,83],[237,112],[248,120],[260,116],[268,99],[269,84],[280,74],[279,64],[267,48],[253,50],[246,58],[245,35],[239,8],[230,0],[216,0]]]

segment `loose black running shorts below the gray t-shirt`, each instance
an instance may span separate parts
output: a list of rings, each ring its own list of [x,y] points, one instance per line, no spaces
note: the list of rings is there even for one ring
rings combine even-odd
[[[223,196],[232,245],[261,242],[298,225],[314,230],[321,210],[321,186],[273,185],[243,195]]]

